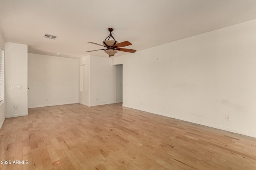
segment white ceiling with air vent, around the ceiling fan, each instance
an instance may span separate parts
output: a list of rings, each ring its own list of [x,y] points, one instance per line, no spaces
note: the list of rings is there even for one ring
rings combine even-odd
[[[157,45],[256,19],[256,0],[1,0],[0,32],[6,42],[28,45],[28,53],[81,58],[108,57],[112,35],[124,48]],[[58,36],[56,40],[45,34]],[[56,55],[61,53],[61,55]],[[119,51],[116,56],[127,53]]]

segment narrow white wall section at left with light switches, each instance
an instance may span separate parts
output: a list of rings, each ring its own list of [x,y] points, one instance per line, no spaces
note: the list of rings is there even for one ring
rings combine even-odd
[[[28,45],[5,43],[5,117],[28,115]],[[17,85],[23,86],[17,89]],[[7,89],[14,86],[14,89]],[[14,105],[18,108],[14,109]]]

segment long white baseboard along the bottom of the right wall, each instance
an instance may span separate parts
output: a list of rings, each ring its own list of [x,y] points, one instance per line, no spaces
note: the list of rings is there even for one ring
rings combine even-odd
[[[129,108],[132,108],[132,109],[136,109],[136,110],[146,111],[148,113],[153,113],[153,114],[157,114],[157,115],[171,117],[171,118],[174,118],[174,119],[188,121],[188,122],[191,122],[191,123],[196,123],[196,124],[199,124],[199,125],[213,127],[213,128],[216,128],[216,129],[220,129],[220,130],[224,130],[224,131],[229,131],[229,132],[232,132],[232,133],[238,133],[240,135],[246,135],[246,136],[249,136],[249,137],[256,138],[256,134],[252,134],[252,133],[246,133],[246,132],[243,132],[243,131],[237,131],[237,130],[229,129],[229,128],[226,128],[226,127],[220,127],[220,126],[217,126],[217,125],[212,125],[212,124],[208,124],[208,123],[204,123],[204,122],[200,122],[200,121],[194,121],[194,120],[186,119],[184,117],[178,117],[178,116],[175,116],[175,115],[167,115],[166,113],[160,113],[160,112],[156,112],[156,111],[145,110],[145,109],[141,109],[141,108],[137,108],[137,107],[127,106],[127,105],[124,105],[124,104],[123,104],[123,106],[124,107],[129,107]]]

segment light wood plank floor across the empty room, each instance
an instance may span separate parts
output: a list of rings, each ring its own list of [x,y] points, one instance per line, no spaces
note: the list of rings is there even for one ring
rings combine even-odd
[[[3,170],[256,170],[256,139],[122,104],[70,104],[5,119],[0,160],[28,161]]]

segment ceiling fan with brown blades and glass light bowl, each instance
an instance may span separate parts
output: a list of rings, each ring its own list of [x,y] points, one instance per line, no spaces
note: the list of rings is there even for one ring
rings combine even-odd
[[[123,48],[120,48],[120,47],[125,47],[125,46],[128,46],[128,45],[132,45],[132,43],[130,43],[129,41],[124,41],[122,43],[118,43],[114,37],[112,36],[112,31],[114,29],[113,28],[108,28],[108,31],[110,32],[109,36],[106,37],[105,41],[103,41],[103,45],[101,44],[97,44],[97,43],[93,43],[93,42],[87,42],[87,43],[92,43],[92,44],[95,44],[95,45],[100,45],[100,46],[103,46],[103,47],[106,47],[106,49],[98,49],[98,50],[92,50],[92,51],[99,51],[99,50],[104,50],[105,53],[108,54],[109,57],[112,57],[114,56],[117,51],[124,51],[124,52],[128,52],[128,53],[135,53],[136,50],[133,50],[133,49],[123,49]],[[110,39],[110,37],[113,38]],[[92,52],[92,51],[85,51],[85,52]]]

